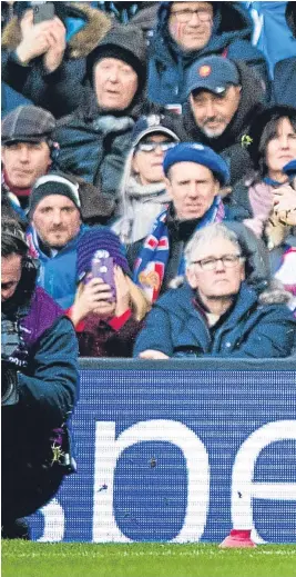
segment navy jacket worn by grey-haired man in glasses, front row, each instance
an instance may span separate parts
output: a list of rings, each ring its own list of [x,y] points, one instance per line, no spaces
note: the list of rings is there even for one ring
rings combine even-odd
[[[185,283],[161,297],[140,332],[134,357],[152,349],[169,357],[279,358],[295,349],[296,319],[286,305],[261,305],[243,282],[236,302],[211,334],[194,307],[195,292]]]

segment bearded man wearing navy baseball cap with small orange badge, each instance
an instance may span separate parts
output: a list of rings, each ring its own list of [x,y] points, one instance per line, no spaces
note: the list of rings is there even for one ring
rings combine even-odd
[[[242,139],[265,102],[261,80],[244,62],[207,56],[190,67],[186,98],[173,128],[182,140],[202,142],[222,155],[233,186],[252,168]]]

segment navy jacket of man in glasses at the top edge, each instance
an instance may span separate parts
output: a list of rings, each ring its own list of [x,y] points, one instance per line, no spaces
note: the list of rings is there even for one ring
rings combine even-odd
[[[253,23],[238,2],[211,2],[214,8],[213,33],[201,50],[184,52],[169,32],[171,2],[161,2],[149,61],[149,98],[161,105],[186,100],[186,71],[194,60],[210,54],[243,60],[255,69],[266,89],[269,87],[264,54],[251,43]]]

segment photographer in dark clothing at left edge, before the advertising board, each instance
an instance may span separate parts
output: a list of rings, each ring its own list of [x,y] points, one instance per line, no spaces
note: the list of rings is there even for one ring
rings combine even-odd
[[[40,287],[24,233],[2,221],[2,537],[29,538],[21,518],[72,472],[65,421],[78,384],[71,321]]]

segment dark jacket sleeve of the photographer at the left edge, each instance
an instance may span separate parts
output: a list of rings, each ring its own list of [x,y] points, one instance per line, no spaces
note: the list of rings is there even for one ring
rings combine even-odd
[[[19,374],[20,404],[43,415],[51,427],[60,426],[78,395],[78,342],[72,322],[59,318],[35,347],[33,375]],[[29,417],[28,417],[29,418]]]

